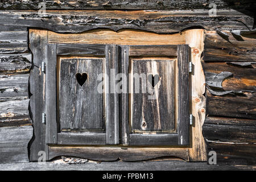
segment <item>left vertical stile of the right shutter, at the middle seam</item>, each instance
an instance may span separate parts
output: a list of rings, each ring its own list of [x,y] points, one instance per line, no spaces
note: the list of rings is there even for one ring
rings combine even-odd
[[[119,47],[119,72],[123,73],[125,77],[122,77],[122,93],[119,94],[119,118],[120,118],[120,137],[121,143],[123,145],[129,144],[129,46],[120,46]]]

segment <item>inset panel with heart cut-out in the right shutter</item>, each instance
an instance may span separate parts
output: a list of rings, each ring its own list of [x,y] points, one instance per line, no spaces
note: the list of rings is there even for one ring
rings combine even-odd
[[[132,131],[175,130],[175,61],[161,59],[131,61],[133,64]]]

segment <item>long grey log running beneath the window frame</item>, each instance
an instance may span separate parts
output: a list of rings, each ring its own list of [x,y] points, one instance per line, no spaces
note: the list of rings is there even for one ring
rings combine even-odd
[[[77,170],[77,171],[255,171],[255,166],[244,165],[208,165],[204,162],[184,162],[182,160],[153,160],[146,162],[101,162],[85,164],[67,164],[67,163],[20,163],[20,164],[0,164],[0,170],[8,171],[54,171],[54,170]],[[96,180],[102,180],[102,176],[96,176]],[[159,178],[155,178],[159,179]]]

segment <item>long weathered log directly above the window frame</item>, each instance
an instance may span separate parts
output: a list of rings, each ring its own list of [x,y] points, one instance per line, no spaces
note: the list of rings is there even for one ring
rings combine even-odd
[[[72,14],[72,15],[71,15]],[[251,15],[253,16],[253,14]],[[134,28],[154,32],[179,32],[185,28],[203,27],[215,30],[248,30],[254,20],[236,10],[218,10],[209,16],[208,10],[181,11],[0,11],[0,31],[18,31],[24,27],[47,28],[55,32],[82,32],[94,28]],[[52,25],[55,26],[52,26]],[[171,24],[171,26],[170,26]]]

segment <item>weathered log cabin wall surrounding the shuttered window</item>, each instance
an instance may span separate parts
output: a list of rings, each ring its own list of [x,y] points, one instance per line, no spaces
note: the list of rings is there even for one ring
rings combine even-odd
[[[40,3],[45,13],[38,13]],[[201,63],[207,88],[203,125],[207,150],[217,152],[218,164],[255,164],[255,3],[216,0],[216,16],[209,16],[209,3],[0,1],[0,162],[29,162],[35,116],[29,108],[34,90],[28,85],[31,67],[38,66],[28,48],[29,28],[59,33],[94,28],[173,33],[204,28]]]

